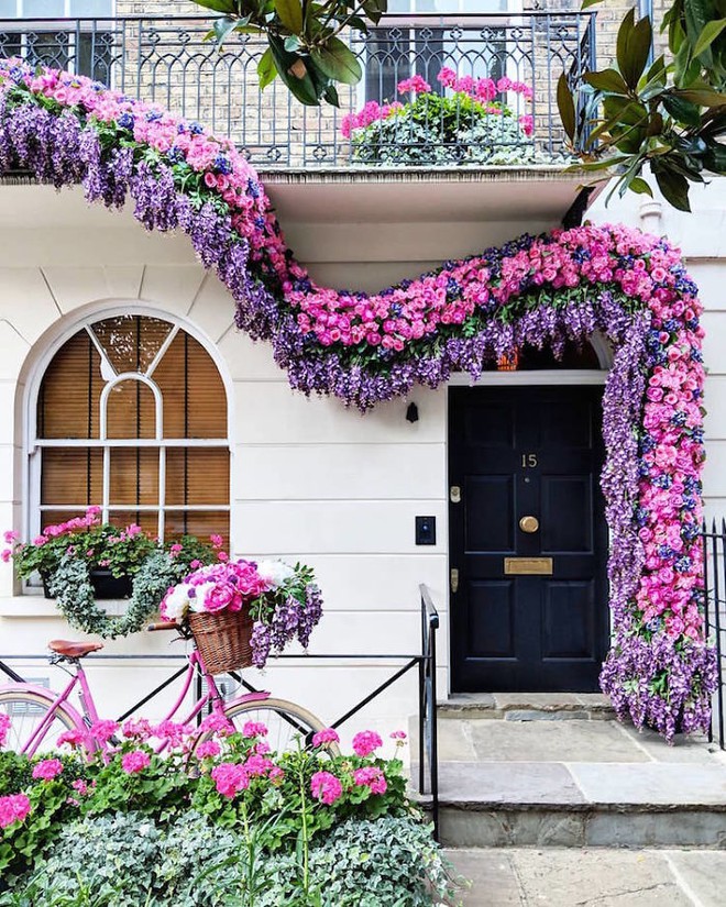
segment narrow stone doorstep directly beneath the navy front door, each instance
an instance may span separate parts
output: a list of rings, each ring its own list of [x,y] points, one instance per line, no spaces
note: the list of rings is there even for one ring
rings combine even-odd
[[[615,717],[600,693],[458,693],[438,704],[442,719],[602,720]]]

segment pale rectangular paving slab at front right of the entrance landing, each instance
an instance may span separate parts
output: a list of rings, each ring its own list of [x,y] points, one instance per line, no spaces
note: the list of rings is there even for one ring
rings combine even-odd
[[[570,762],[572,777],[592,804],[710,806],[726,811],[726,766],[646,762]]]

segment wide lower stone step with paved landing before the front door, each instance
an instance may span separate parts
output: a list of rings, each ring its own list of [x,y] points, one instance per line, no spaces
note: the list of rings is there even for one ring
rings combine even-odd
[[[439,754],[448,847],[726,849],[726,756],[703,738],[668,746],[608,720],[450,719]]]

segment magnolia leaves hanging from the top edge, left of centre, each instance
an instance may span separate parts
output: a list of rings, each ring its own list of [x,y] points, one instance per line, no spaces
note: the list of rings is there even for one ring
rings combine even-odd
[[[194,0],[221,13],[207,38],[221,48],[232,34],[267,38],[267,49],[257,64],[260,87],[279,77],[304,104],[321,100],[338,106],[336,82],[355,85],[363,76],[361,64],[343,32],[367,32],[377,24],[387,0]]]

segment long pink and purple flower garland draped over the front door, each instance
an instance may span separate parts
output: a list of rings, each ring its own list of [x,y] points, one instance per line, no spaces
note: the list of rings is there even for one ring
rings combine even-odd
[[[67,73],[0,62],[0,173],[22,168],[89,201],[127,197],[148,230],[183,230],[267,340],[294,388],[361,410],[476,378],[524,344],[617,352],[604,397],[602,486],[612,533],[614,638],[602,674],[619,716],[705,729],[701,471],[703,331],[678,250],[624,226],[521,236],[370,296],[317,286],[285,245],[256,174],[229,140]]]

